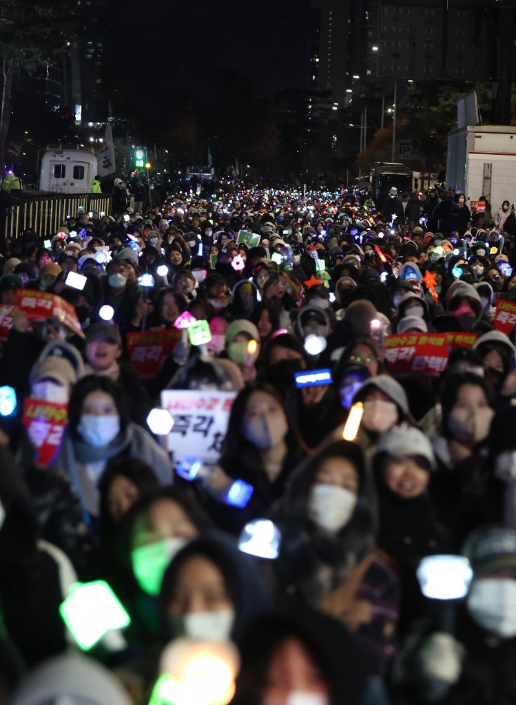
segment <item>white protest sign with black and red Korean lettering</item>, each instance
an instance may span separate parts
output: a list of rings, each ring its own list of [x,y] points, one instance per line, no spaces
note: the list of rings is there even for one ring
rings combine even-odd
[[[227,431],[236,392],[165,389],[161,405],[174,419],[168,447],[179,462],[196,455],[204,462],[217,462]]]

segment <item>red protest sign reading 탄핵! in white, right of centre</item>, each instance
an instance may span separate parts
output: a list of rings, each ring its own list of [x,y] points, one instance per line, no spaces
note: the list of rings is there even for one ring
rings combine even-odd
[[[448,364],[446,333],[406,333],[386,336],[385,359],[393,376],[437,375]]]

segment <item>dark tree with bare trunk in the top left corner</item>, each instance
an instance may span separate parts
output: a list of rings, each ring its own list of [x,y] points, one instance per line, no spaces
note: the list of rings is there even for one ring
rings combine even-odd
[[[0,111],[0,164],[11,119],[13,81],[18,71],[29,73],[64,51],[75,36],[73,0],[4,0],[0,4],[0,58],[4,89]]]

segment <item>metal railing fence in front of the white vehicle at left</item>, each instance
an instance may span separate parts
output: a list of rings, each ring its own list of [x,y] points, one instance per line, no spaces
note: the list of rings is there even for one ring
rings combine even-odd
[[[6,235],[18,237],[27,228],[47,237],[59,231],[68,216],[97,211],[111,213],[111,196],[104,193],[24,194],[11,192],[13,205],[6,221]],[[133,205],[131,197],[131,205]]]

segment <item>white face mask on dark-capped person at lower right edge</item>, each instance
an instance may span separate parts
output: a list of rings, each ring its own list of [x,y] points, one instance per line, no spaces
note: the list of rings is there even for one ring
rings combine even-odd
[[[467,608],[474,621],[502,639],[516,637],[516,580],[482,578],[474,580]]]

